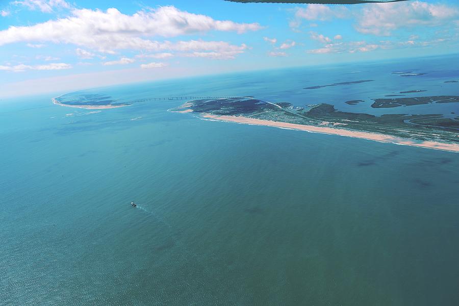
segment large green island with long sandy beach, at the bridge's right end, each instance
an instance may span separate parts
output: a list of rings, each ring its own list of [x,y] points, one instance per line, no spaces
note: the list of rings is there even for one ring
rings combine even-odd
[[[290,103],[271,103],[251,97],[192,100],[170,111],[196,114],[204,119],[459,152],[459,117],[444,118],[439,114],[374,116],[337,111],[329,104],[294,109]]]

